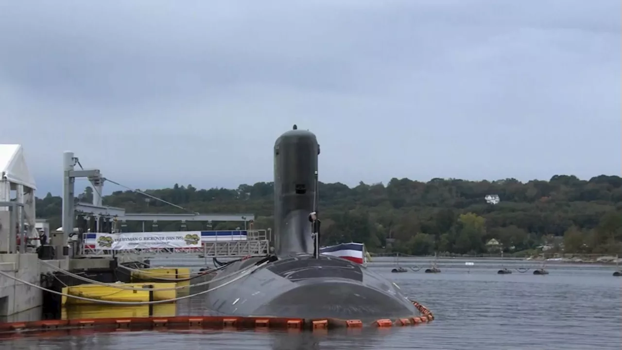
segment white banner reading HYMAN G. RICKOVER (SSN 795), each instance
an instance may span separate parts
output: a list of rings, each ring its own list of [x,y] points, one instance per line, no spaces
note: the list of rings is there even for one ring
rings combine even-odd
[[[96,234],[95,248],[101,250],[200,248],[200,232],[129,232]]]

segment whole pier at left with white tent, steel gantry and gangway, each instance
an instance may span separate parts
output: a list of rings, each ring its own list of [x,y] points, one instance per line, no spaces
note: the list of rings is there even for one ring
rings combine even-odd
[[[58,269],[89,273],[94,280],[114,282],[111,279],[115,278],[119,265],[132,262],[148,266],[149,259],[160,255],[235,258],[264,256],[269,252],[271,230],[254,230],[254,214],[200,214],[189,210],[186,214],[128,213],[123,208],[104,206],[104,182],[124,186],[103,177],[99,169],[83,169],[80,160],[70,151],[63,153],[62,227],[50,230],[45,227],[45,220],[35,218],[37,186],[28,169],[21,145],[0,144],[0,271],[33,285],[61,288]],[[93,186],[92,202],[75,202],[75,180],[78,178],[88,179]],[[182,230],[144,232],[146,223],[155,228],[157,222],[165,221],[181,222]],[[240,222],[243,229],[184,230],[186,222],[205,222],[206,227],[211,227],[213,222],[223,221]],[[128,222],[142,222],[143,232],[127,232]],[[44,245],[41,244],[40,230],[49,237]],[[101,245],[114,241],[114,237],[151,237],[155,240],[154,237],[167,236],[181,237],[185,243],[172,247],[135,248]],[[79,280],[63,280],[66,285],[81,283]],[[42,290],[0,275],[0,317],[34,310],[43,304]]]

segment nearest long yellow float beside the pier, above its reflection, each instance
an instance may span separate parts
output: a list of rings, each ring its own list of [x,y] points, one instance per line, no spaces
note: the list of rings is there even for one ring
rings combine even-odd
[[[115,283],[116,284],[116,283]],[[136,302],[136,301],[149,301],[149,286],[157,288],[172,288],[176,283],[156,283],[156,282],[144,282],[144,283],[118,283],[122,286],[131,286],[134,288],[144,288],[144,290],[127,290],[120,289],[114,286],[102,286],[95,284],[77,285],[70,287],[63,287],[63,294],[81,296],[83,298],[106,300],[106,301],[120,301],[120,302]],[[177,296],[175,290],[156,290],[153,291],[153,300],[170,300]],[[81,300],[71,298],[63,295],[61,305],[71,304],[97,304],[97,301]]]

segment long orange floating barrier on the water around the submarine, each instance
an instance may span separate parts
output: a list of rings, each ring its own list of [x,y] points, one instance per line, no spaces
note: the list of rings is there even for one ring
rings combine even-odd
[[[237,316],[175,316],[144,318],[85,318],[51,319],[44,321],[13,322],[0,324],[0,339],[14,338],[21,335],[67,334],[70,331],[144,331],[165,329],[287,329],[289,331],[328,330],[335,328],[363,328],[372,326],[388,328],[394,326],[416,326],[428,323],[434,315],[425,306],[416,301],[413,305],[422,314],[409,318],[378,319],[363,323],[360,319],[302,319],[274,317],[237,317]]]

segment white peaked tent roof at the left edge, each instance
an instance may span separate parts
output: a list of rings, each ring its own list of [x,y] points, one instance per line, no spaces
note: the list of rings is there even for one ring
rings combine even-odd
[[[21,144],[0,144],[0,181],[37,189],[35,179],[28,171]]]

